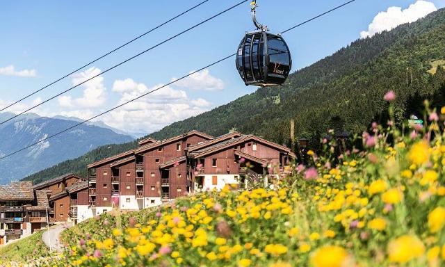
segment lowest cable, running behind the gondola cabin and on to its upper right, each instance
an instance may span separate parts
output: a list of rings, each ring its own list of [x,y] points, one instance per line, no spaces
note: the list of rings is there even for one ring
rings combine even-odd
[[[354,1],[355,1],[355,0],[354,0]],[[349,1],[348,3],[352,3],[352,2],[353,2],[353,1]],[[346,3],[346,4],[348,4],[348,3]],[[338,8],[341,8],[342,6],[346,6],[346,4],[343,4],[343,5],[339,6]],[[318,17],[321,17],[321,16],[323,16],[323,15],[326,15],[327,13],[330,13],[330,12],[332,12],[332,11],[334,11],[334,10],[337,10],[338,8],[333,8],[332,10],[329,10],[329,11],[327,11],[327,12],[325,12],[325,13],[322,13],[322,15],[317,15],[316,17],[314,17],[314,19],[316,19],[316,18],[318,18]],[[314,19],[307,19],[305,22],[302,22],[302,23],[300,23],[300,24],[297,24],[296,26],[293,26],[293,27],[287,29],[287,30],[284,31],[284,32],[287,32],[287,31],[291,31],[291,30],[293,30],[293,29],[296,29],[297,27],[302,26],[302,25],[304,25],[304,24],[307,24],[308,22],[311,22],[311,21],[314,20]],[[167,83],[167,84],[165,84],[164,86],[161,86],[161,87],[156,88],[156,89],[154,89],[154,90],[152,90],[152,91],[146,92],[145,94],[140,95],[139,97],[136,97],[136,98],[134,98],[134,99],[131,99],[131,100],[129,100],[129,101],[123,103],[123,104],[120,104],[120,105],[118,105],[118,106],[115,106],[115,107],[113,107],[113,108],[110,108],[108,111],[104,111],[104,112],[102,112],[102,113],[100,113],[100,114],[98,114],[98,115],[95,115],[94,117],[89,118],[88,120],[83,120],[82,122],[79,122],[79,123],[75,124],[74,126],[69,127],[69,128],[67,128],[67,129],[65,129],[65,130],[63,130],[63,131],[59,131],[58,133],[54,133],[54,134],[52,134],[51,136],[47,136],[47,138],[43,138],[42,140],[39,140],[39,141],[36,142],[36,143],[33,143],[33,144],[28,145],[28,146],[26,146],[26,147],[23,147],[22,149],[18,149],[18,150],[16,150],[15,152],[12,152],[12,153],[10,153],[10,154],[6,154],[5,156],[2,156],[2,157],[0,158],[0,161],[1,161],[2,159],[6,159],[6,158],[8,158],[9,156],[13,156],[14,154],[17,154],[17,153],[19,153],[19,152],[22,152],[23,150],[28,149],[29,147],[33,147],[34,145],[38,145],[39,143],[42,143],[42,142],[44,142],[45,140],[48,140],[48,139],[53,138],[53,137],[55,137],[55,136],[58,136],[58,135],[61,134],[61,133],[65,133],[66,131],[70,131],[70,129],[73,129],[74,127],[77,127],[77,126],[79,126],[79,125],[81,125],[81,124],[84,124],[84,123],[86,123],[86,122],[89,122],[90,120],[94,120],[95,118],[97,118],[97,117],[99,117],[99,116],[102,116],[102,115],[104,115],[104,114],[106,114],[106,113],[108,113],[108,112],[114,111],[115,109],[120,108],[121,106],[124,106],[124,105],[126,105],[126,104],[129,104],[129,103],[135,101],[136,99],[140,99],[141,97],[145,97],[146,95],[149,95],[149,94],[151,94],[152,92],[156,92],[156,90],[160,90],[161,88],[164,88],[165,86],[170,86],[170,85],[172,85],[173,83],[176,83],[177,81],[181,81],[181,79],[185,79],[185,78],[188,77],[188,76],[191,76],[191,75],[193,75],[193,74],[195,74],[195,73],[197,73],[197,72],[200,72],[201,70],[206,69],[207,67],[211,67],[211,66],[213,66],[213,65],[216,65],[216,64],[218,64],[218,63],[221,63],[221,62],[223,62],[224,60],[227,60],[227,59],[229,59],[229,58],[232,58],[232,56],[236,56],[236,53],[235,53],[235,54],[231,54],[231,55],[229,55],[229,56],[226,56],[226,57],[224,57],[224,58],[221,58],[220,60],[217,60],[217,61],[215,61],[215,62],[213,62],[213,63],[211,63],[211,64],[209,64],[209,65],[207,65],[207,66],[205,66],[205,67],[202,67],[202,68],[200,68],[199,70],[196,70],[195,72],[191,72],[191,73],[189,73],[189,74],[187,74],[187,75],[181,76],[181,78],[176,79],[175,81],[170,81],[170,83]]]

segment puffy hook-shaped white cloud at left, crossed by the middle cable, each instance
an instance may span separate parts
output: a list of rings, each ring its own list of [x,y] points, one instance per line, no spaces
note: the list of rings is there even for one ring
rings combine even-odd
[[[91,67],[90,69],[73,75],[72,84],[75,86],[83,81],[86,81],[93,76],[99,74],[101,70],[97,67]],[[105,104],[106,88],[104,86],[104,77],[97,76],[94,79],[87,81],[81,85],[83,89],[83,96],[72,99],[70,96],[58,97],[58,104],[64,108],[73,108],[74,106],[79,108],[97,108]]]

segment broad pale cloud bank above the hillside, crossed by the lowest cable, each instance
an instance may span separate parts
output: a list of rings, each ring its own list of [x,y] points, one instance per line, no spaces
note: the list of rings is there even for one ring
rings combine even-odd
[[[143,83],[124,79],[113,83],[113,92],[120,93],[121,98],[118,104],[122,104],[161,86],[163,85],[158,84],[147,88]],[[190,99],[184,90],[175,90],[170,86],[165,86],[161,90],[104,115],[101,120],[122,131],[149,133],[172,122],[203,113],[210,105],[202,98]]]

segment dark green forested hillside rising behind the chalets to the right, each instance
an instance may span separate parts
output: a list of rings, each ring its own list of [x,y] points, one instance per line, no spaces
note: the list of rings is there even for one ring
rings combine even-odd
[[[290,143],[290,120],[296,138],[316,140],[327,129],[355,133],[373,121],[385,122],[387,104],[382,97],[394,90],[396,116],[403,122],[417,113],[422,99],[445,104],[445,10],[412,24],[356,40],[332,56],[289,76],[284,86],[260,88],[207,113],[152,133],[168,138],[197,129],[213,136],[236,129],[277,143]],[[296,59],[298,60],[298,59]],[[434,68],[433,68],[434,66]],[[84,174],[86,164],[136,146],[107,146],[60,163],[26,179],[49,179],[65,172]]]

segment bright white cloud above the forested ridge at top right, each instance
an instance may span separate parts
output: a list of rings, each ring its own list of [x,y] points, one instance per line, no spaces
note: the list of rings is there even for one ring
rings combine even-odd
[[[415,22],[417,19],[425,17],[436,10],[437,8],[434,3],[423,0],[416,1],[416,3],[411,4],[404,10],[398,6],[391,6],[386,12],[378,13],[378,15],[374,17],[373,22],[369,24],[368,31],[362,31],[360,37],[371,37],[375,33],[389,31],[398,25]]]

